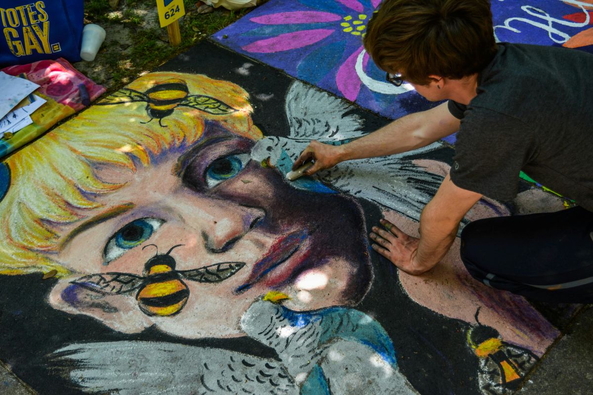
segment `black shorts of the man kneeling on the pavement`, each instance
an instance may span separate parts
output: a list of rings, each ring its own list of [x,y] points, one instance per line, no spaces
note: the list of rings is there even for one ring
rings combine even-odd
[[[593,213],[477,220],[461,233],[461,259],[477,280],[546,302],[593,303]]]

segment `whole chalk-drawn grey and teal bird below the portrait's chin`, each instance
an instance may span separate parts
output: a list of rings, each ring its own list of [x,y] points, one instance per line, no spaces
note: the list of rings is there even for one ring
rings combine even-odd
[[[355,309],[295,312],[258,299],[241,328],[278,359],[139,341],[79,343],[54,357],[87,393],[416,394],[397,369],[387,333]]]

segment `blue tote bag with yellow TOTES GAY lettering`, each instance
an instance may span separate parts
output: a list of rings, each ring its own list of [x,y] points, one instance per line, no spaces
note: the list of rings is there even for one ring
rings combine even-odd
[[[1,0],[0,66],[80,60],[82,0]]]

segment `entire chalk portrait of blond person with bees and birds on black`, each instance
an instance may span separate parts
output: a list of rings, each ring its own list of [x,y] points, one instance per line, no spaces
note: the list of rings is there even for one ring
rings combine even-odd
[[[458,240],[420,277],[369,248],[381,217],[417,234],[451,148],[285,179],[385,122],[206,42],[14,153],[0,359],[41,394],[510,393],[559,330]]]

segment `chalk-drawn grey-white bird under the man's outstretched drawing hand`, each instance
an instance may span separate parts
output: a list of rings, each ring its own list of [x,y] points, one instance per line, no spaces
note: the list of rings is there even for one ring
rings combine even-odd
[[[339,145],[364,135],[364,121],[342,99],[295,81],[286,94],[288,137],[270,136],[258,141],[251,157],[287,173],[311,140]],[[339,163],[315,173],[314,179],[333,189],[374,201],[416,221],[422,208],[436,194],[442,176],[416,166],[411,158],[441,148],[433,143],[418,150],[391,156]],[[309,178],[294,181],[297,188],[323,190]]]

